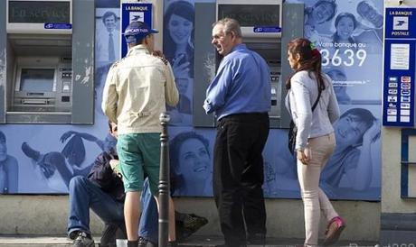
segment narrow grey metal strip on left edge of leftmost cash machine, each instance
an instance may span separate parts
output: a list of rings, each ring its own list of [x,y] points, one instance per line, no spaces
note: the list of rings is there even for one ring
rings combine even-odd
[[[5,1],[0,1],[0,123],[5,123],[5,50],[7,33],[5,31]]]

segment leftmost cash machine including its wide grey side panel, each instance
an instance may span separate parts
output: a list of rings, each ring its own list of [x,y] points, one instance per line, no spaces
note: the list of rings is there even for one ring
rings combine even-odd
[[[95,12],[88,2],[5,2],[5,123],[93,123]]]

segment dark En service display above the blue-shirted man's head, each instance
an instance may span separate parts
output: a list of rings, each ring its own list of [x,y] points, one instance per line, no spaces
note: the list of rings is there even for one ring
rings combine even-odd
[[[218,19],[236,19],[241,26],[280,26],[280,5],[219,5]]]

